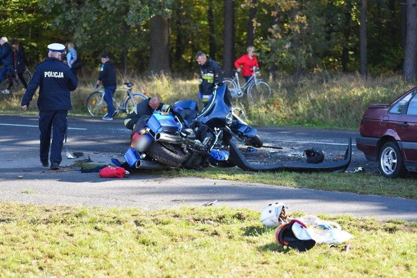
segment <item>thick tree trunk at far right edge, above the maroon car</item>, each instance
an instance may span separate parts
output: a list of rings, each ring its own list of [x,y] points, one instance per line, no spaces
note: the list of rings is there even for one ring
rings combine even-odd
[[[407,0],[407,39],[404,55],[404,78],[417,80],[417,0]]]

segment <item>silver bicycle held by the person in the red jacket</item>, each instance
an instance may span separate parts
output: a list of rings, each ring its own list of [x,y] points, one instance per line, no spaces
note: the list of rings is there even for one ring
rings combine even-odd
[[[254,75],[251,76],[251,78],[243,85],[243,87],[240,85],[237,70],[233,71],[233,78],[223,79],[223,83],[225,83],[229,88],[232,97],[242,97],[246,93],[248,97],[253,101],[255,99],[266,100],[271,96],[272,91],[269,84],[256,77],[256,75],[259,74],[259,68],[253,67]]]

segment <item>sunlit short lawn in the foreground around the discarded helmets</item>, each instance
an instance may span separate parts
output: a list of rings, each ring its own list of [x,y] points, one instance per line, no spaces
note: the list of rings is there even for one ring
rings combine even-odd
[[[290,216],[301,214],[294,212]],[[2,277],[413,277],[417,223],[327,217],[354,235],[300,253],[275,241],[259,212],[158,211],[3,203]]]

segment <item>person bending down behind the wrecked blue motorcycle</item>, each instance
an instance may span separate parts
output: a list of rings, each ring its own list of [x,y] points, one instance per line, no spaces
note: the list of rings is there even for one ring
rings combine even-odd
[[[166,111],[168,104],[164,104],[161,100],[154,96],[139,102],[132,113],[126,115],[124,125],[127,129],[132,130],[132,135],[144,126],[144,121],[153,114],[154,110]],[[140,124],[143,122],[143,124]]]

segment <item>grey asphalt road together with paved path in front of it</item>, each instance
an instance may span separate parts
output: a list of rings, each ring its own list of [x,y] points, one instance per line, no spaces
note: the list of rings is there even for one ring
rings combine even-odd
[[[344,154],[352,131],[302,128],[258,128],[264,144],[257,152],[243,149],[249,161],[304,160],[304,149],[320,147],[325,160]],[[68,140],[70,152],[83,152],[94,163],[109,164],[111,158],[122,160],[129,144],[129,131],[121,119],[70,117]],[[75,160],[65,157],[59,171],[44,168],[39,162],[39,130],[36,116],[0,115],[0,202],[45,205],[138,207],[162,209],[182,205],[200,206],[218,200],[215,206],[261,210],[281,201],[289,211],[307,214],[348,214],[377,219],[417,220],[417,201],[342,192],[288,188],[253,183],[228,182],[201,178],[166,178],[150,171],[132,173],[129,178],[103,179],[97,173],[72,170]],[[352,146],[352,162],[347,171],[358,166],[375,171],[376,163],[367,162]],[[22,176],[22,178],[18,178]],[[26,193],[25,193],[26,192]],[[28,194],[31,192],[32,194]]]

